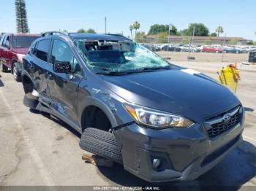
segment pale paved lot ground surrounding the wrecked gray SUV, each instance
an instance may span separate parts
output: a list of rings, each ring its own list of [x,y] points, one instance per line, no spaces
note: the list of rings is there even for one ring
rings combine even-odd
[[[217,79],[221,54],[159,52],[170,56],[171,63],[189,67]],[[246,54],[225,56],[228,63],[246,60]],[[10,73],[0,72],[0,185],[56,186],[162,186],[227,185],[238,190],[256,185],[256,66],[239,64],[241,82],[238,98],[246,109],[244,141],[211,171],[189,182],[150,184],[124,171],[121,165],[97,168],[81,160],[84,151],[78,146],[79,135],[69,125],[23,106],[23,87]]]

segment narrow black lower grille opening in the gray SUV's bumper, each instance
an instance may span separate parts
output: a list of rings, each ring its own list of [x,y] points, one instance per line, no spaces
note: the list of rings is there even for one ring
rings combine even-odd
[[[217,157],[219,157],[224,152],[226,152],[228,149],[233,147],[233,145],[236,144],[236,142],[239,140],[239,137],[240,137],[240,135],[237,136],[232,141],[230,141],[227,144],[225,144],[224,146],[220,147],[216,151],[212,152],[210,155],[206,156],[205,159],[203,160],[203,162],[201,163],[201,166],[204,166],[204,165],[207,165],[208,163],[211,163],[212,161],[217,159]]]

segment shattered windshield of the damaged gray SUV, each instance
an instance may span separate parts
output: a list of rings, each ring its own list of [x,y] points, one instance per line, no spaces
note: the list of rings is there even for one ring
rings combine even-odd
[[[170,63],[135,42],[75,40],[89,67],[99,74],[124,74],[170,69]]]

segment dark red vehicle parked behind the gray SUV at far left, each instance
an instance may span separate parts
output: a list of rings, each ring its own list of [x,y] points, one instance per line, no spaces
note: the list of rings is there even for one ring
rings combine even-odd
[[[4,34],[0,41],[0,70],[11,69],[16,81],[20,81],[21,63],[31,45],[39,35],[34,34]]]

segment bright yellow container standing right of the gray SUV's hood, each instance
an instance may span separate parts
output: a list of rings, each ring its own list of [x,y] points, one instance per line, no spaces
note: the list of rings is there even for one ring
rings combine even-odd
[[[240,71],[236,68],[236,66],[226,66],[219,71],[219,82],[221,82],[222,85],[230,87],[230,89],[232,89],[235,93],[239,80]]]

